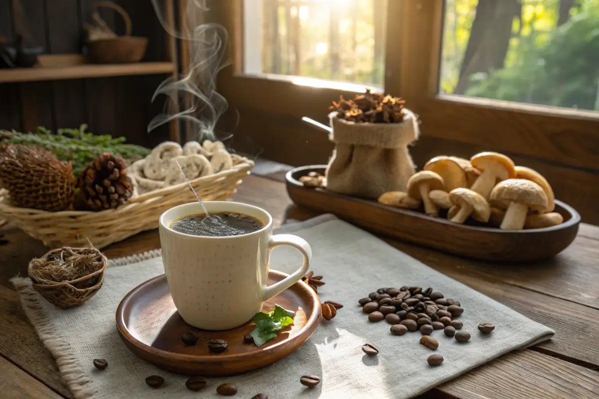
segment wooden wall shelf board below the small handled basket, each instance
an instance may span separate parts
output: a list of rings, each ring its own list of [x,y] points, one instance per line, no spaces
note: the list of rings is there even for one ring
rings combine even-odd
[[[66,80],[102,78],[123,75],[173,74],[172,62],[139,62],[132,64],[73,65],[56,68],[0,69],[0,83],[32,82],[42,80]]]

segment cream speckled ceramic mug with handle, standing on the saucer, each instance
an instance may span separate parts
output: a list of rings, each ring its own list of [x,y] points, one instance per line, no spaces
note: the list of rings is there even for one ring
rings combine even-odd
[[[273,218],[264,209],[239,202],[204,202],[208,214],[237,212],[262,222],[262,229],[240,236],[193,236],[171,229],[184,217],[204,214],[199,202],[175,206],[159,220],[162,262],[173,302],[183,320],[204,330],[238,327],[271,299],[298,282],[310,268],[312,250],[291,234],[273,236]],[[289,245],[304,256],[291,276],[267,287],[270,251]]]

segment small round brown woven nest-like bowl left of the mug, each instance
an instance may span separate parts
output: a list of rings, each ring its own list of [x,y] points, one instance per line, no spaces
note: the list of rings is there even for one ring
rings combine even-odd
[[[83,250],[89,251],[90,248],[52,249],[52,251],[47,252],[40,259],[46,261],[50,256],[60,254],[65,249],[77,252]],[[97,261],[98,263],[102,263],[98,265],[98,269],[89,275],[71,281],[56,282],[35,276],[32,274],[34,262],[31,261],[28,266],[28,275],[31,278],[34,290],[40,293],[47,301],[62,309],[83,304],[98,292],[104,282],[104,270],[106,269],[108,260],[101,252],[97,252]]]

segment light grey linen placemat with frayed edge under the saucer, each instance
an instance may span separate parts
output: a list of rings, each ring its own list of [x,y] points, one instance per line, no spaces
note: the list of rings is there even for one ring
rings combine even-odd
[[[75,398],[208,398],[219,397],[223,382],[238,388],[237,397],[250,398],[265,392],[270,398],[409,398],[471,368],[515,349],[525,348],[553,335],[550,328],[522,316],[509,307],[444,276],[377,237],[332,215],[292,223],[276,233],[294,233],[313,249],[311,269],[323,275],[319,287],[322,301],[340,301],[345,307],[331,321],[323,321],[294,354],[270,367],[240,376],[209,378],[200,392],[188,391],[186,376],[167,373],[135,357],[121,342],[115,325],[120,300],[132,288],[164,272],[159,251],[111,260],[104,286],[80,307],[58,309],[42,299],[26,278],[14,278],[23,307],[44,345],[56,358],[63,380]],[[301,262],[293,248],[278,247],[271,267],[293,272]],[[492,266],[490,266],[492,267]],[[371,323],[358,299],[380,287],[420,285],[441,291],[461,302],[460,320],[470,342],[458,343],[437,330],[437,351],[419,344],[420,333],[394,336],[385,321]],[[483,335],[479,322],[496,328]],[[380,353],[368,357],[364,343],[374,343]],[[443,355],[441,366],[431,367],[426,358]],[[94,358],[105,358],[108,368],[96,370]],[[401,370],[401,373],[398,373]],[[158,374],[165,385],[152,389],[145,378]],[[302,374],[316,374],[316,388],[299,383]]]

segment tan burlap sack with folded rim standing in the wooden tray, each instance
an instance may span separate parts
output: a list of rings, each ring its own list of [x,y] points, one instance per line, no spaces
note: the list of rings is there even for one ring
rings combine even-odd
[[[326,189],[335,193],[377,199],[387,191],[406,191],[415,173],[407,146],[418,140],[418,117],[404,108],[401,123],[354,123],[331,112],[335,143],[326,167]]]

